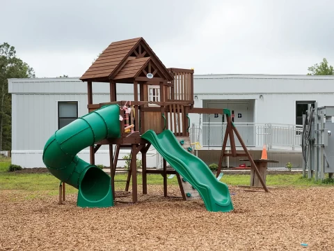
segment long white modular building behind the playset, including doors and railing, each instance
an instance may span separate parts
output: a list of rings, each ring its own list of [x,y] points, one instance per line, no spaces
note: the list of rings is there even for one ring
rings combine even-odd
[[[117,100],[134,100],[131,85],[117,85]],[[157,98],[154,86],[152,100]],[[22,167],[45,167],[42,152],[59,128],[88,113],[87,85],[79,77],[8,79],[12,94],[12,162]],[[285,167],[301,167],[302,114],[309,105],[334,105],[334,76],[310,75],[194,75],[194,107],[228,108],[253,158],[264,145],[269,158]],[[93,103],[109,102],[109,84],[93,83]],[[224,116],[189,114],[191,142],[207,164],[218,161],[225,133]],[[236,142],[239,146],[239,141]],[[239,148],[240,149],[240,148]],[[120,152],[127,154],[127,150]],[[89,161],[89,149],[79,153]],[[236,158],[228,167],[240,164]],[[109,166],[108,146],[95,154],[95,164]],[[118,162],[118,166],[124,162]],[[159,167],[159,154],[148,151],[148,167]]]

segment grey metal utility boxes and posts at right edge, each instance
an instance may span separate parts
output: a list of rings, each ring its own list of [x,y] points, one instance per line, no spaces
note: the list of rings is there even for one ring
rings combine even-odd
[[[303,114],[303,177],[323,181],[325,174],[333,178],[334,174],[334,107],[318,107],[308,105]]]

